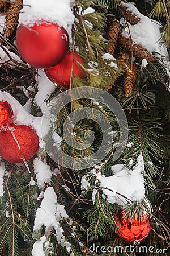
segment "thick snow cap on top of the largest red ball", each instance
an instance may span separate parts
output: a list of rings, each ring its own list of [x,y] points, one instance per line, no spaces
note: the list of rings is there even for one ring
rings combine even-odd
[[[71,36],[71,26],[74,15],[71,11],[70,0],[23,0],[23,9],[19,15],[19,23],[25,26],[33,26],[35,22],[42,20],[57,23],[64,27]]]

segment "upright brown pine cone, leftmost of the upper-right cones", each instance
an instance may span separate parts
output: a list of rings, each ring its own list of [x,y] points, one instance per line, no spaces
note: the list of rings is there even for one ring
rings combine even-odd
[[[113,17],[108,18],[108,31],[106,34],[106,38],[108,39],[109,47],[107,49],[107,52],[114,55],[116,45],[117,45],[117,39],[118,35],[120,33],[120,23],[115,20]]]

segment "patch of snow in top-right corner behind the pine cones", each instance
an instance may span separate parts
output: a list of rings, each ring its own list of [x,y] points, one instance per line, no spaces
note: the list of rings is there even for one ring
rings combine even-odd
[[[138,9],[131,3],[121,2],[121,5],[126,6],[129,11],[141,19],[135,25],[129,24],[130,35],[127,27],[126,30],[122,31],[122,36],[126,38],[130,38],[131,36],[134,43],[141,44],[150,53],[155,51],[161,55],[168,56],[167,49],[159,43],[161,36],[159,29],[161,24],[139,13]],[[121,19],[121,23],[125,23],[124,18]]]

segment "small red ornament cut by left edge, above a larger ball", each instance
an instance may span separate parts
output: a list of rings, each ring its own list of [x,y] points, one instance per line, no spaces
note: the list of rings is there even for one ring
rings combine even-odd
[[[0,101],[0,128],[10,125],[13,116],[11,105],[7,101]]]

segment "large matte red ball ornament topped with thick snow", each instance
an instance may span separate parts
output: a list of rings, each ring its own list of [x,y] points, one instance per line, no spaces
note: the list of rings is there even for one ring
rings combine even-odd
[[[50,68],[60,63],[69,51],[69,35],[63,27],[41,21],[33,26],[20,24],[16,31],[20,56],[35,68]]]

